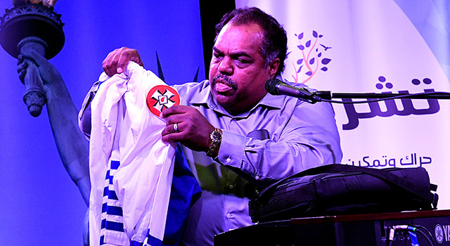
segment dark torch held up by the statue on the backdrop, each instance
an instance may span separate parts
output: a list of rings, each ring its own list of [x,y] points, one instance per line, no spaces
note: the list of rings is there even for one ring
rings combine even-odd
[[[13,8],[6,9],[0,18],[0,44],[11,56],[18,58],[22,51],[32,49],[46,59],[53,58],[64,46],[61,15],[53,11],[56,0],[13,0]],[[23,101],[34,117],[41,114],[46,103],[42,80],[36,65],[24,78]]]

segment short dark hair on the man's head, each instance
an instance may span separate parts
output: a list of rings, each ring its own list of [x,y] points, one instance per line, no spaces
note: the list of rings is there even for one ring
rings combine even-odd
[[[286,37],[286,31],[283,26],[275,18],[264,13],[259,8],[236,8],[226,13],[221,18],[219,24],[216,25],[216,39],[222,28],[230,21],[236,25],[256,23],[262,27],[264,30],[264,39],[260,52],[262,58],[264,58],[264,67],[267,67],[275,58],[280,58],[280,66],[276,71],[276,75],[280,75],[284,70],[284,60],[288,51],[288,38]]]

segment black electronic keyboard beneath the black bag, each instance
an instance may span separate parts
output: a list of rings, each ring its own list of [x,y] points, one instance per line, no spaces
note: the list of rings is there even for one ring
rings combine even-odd
[[[407,229],[416,226],[418,243],[450,245],[450,210],[319,216],[272,221],[220,233],[214,246],[243,245],[411,245]],[[420,228],[419,228],[420,226]],[[390,239],[390,233],[392,239]]]

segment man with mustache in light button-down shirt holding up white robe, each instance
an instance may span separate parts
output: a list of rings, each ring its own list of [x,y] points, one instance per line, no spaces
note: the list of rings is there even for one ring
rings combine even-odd
[[[184,145],[203,189],[188,217],[185,245],[212,245],[215,234],[252,224],[248,201],[255,188],[342,158],[330,104],[264,89],[284,68],[283,27],[258,8],[239,8],[216,29],[209,81],[174,86],[181,105],[162,112],[163,141]],[[129,60],[142,65],[136,50],[117,49],[103,69],[112,76]],[[89,112],[80,115],[89,132]]]

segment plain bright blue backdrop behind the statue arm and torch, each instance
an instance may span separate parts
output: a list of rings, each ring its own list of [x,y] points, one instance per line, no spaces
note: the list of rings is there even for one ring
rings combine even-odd
[[[1,1],[0,15],[11,8]],[[65,45],[50,61],[77,108],[121,46],[136,48],[148,70],[167,84],[205,79],[198,1],[68,1],[55,10],[65,23]],[[212,37],[213,38],[213,37]],[[86,205],[65,171],[46,109],[32,117],[23,103],[17,60],[0,49],[0,245],[82,245]]]

